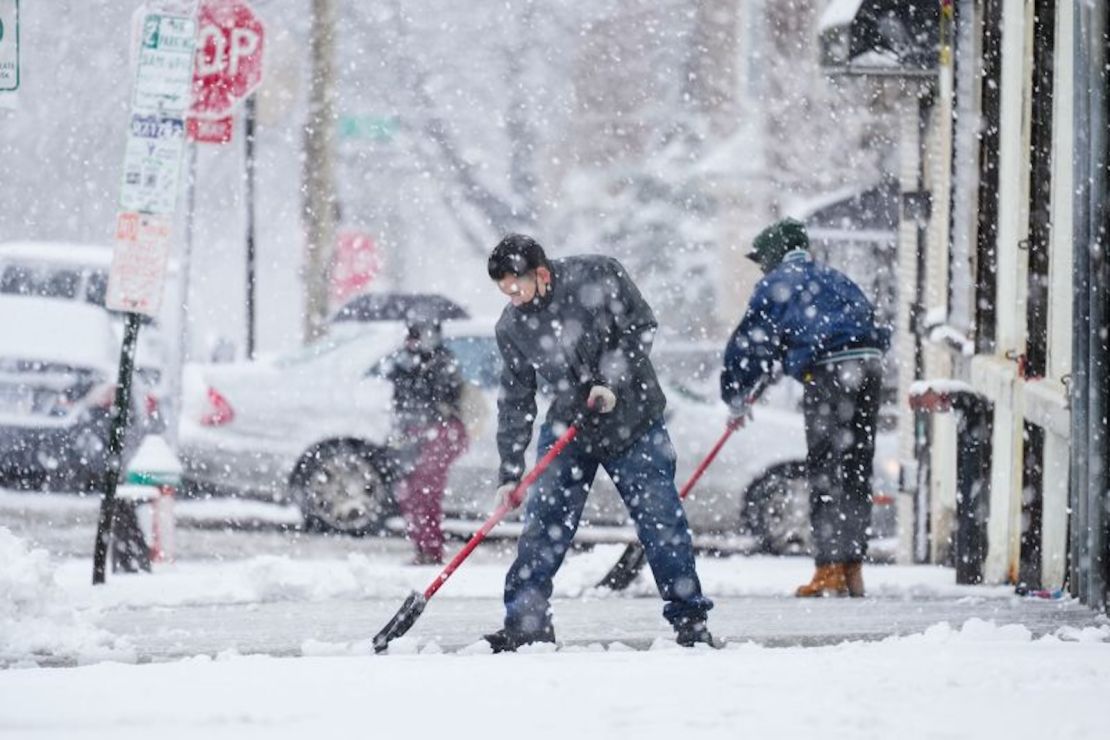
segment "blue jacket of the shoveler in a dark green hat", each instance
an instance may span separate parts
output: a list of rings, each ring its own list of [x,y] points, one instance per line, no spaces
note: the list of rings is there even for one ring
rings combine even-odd
[[[746,398],[775,362],[800,381],[818,364],[879,357],[889,346],[890,327],[876,324],[859,286],[796,250],[756,284],[725,348],[720,395],[725,403]]]

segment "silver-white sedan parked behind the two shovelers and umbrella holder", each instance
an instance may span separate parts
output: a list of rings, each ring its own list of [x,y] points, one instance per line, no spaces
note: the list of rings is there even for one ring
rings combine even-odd
[[[493,320],[444,323],[445,342],[474,392],[467,394],[470,448],[452,468],[444,501],[454,520],[448,526],[460,533],[473,530],[474,521],[488,515],[496,488],[501,358],[493,325]],[[396,322],[351,324],[346,331],[334,326],[320,343],[274,359],[191,366],[180,435],[191,487],[292,501],[312,527],[350,534],[382,531],[391,524],[396,528],[390,493],[392,385],[380,368],[403,336]],[[719,361],[716,353],[702,354],[709,358],[658,353],[679,486],[727,420],[715,393]],[[783,384],[766,394],[755,422],[733,435],[687,499],[703,546],[778,553],[808,546],[798,391]],[[533,462],[534,452],[528,455]],[[882,520],[882,508],[877,507],[877,520]],[[583,520],[593,525],[583,528],[586,537],[633,537],[626,510],[604,474]]]

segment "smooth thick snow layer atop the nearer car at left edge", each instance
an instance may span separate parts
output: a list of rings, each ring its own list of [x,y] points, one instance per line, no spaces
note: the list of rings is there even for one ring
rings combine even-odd
[[[77,301],[0,295],[0,357],[115,372],[119,346],[111,316]]]

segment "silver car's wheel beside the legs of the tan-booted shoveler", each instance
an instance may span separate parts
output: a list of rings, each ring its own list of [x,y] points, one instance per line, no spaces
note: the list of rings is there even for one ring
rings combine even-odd
[[[809,530],[809,483],[805,463],[787,463],[768,470],[744,495],[740,521],[771,555],[806,555],[813,549]]]

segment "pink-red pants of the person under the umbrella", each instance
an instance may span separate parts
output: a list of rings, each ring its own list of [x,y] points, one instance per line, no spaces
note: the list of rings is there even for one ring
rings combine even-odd
[[[443,490],[451,464],[466,452],[466,427],[458,419],[407,430],[418,439],[413,472],[396,487],[408,539],[426,557],[443,558]]]

